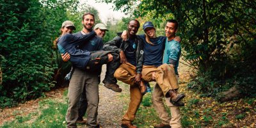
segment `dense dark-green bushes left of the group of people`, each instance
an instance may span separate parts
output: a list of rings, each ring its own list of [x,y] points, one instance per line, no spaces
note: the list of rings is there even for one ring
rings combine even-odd
[[[40,97],[54,84],[52,40],[74,1],[1,1],[1,107]],[[64,15],[63,15],[64,14]],[[53,18],[54,17],[54,18]]]

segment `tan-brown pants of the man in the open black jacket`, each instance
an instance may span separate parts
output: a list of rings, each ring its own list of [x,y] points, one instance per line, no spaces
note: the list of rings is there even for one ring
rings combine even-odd
[[[122,124],[131,123],[136,115],[136,112],[140,106],[141,100],[143,98],[143,95],[140,93],[140,89],[138,86],[134,85],[134,78],[136,76],[136,67],[134,65],[131,65],[131,63],[126,63],[120,65],[119,68],[117,68],[114,76],[119,81],[122,81],[126,84],[130,84],[130,96],[131,101],[129,104],[129,108],[125,115],[122,118]]]

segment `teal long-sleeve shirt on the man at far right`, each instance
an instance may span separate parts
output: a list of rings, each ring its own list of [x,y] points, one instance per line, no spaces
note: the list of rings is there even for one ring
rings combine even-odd
[[[175,74],[178,75],[179,60],[181,55],[180,43],[166,38],[163,63],[174,65]]]

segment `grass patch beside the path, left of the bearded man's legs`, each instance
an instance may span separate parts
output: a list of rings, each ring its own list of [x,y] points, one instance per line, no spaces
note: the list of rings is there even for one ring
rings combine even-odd
[[[67,97],[67,92],[64,99]],[[67,100],[65,100],[67,101]],[[26,116],[15,116],[12,122],[6,122],[1,127],[65,127],[65,115],[67,112],[67,102],[60,102],[52,99],[45,99],[39,102],[40,113],[29,113]],[[17,112],[15,112],[17,113]]]

